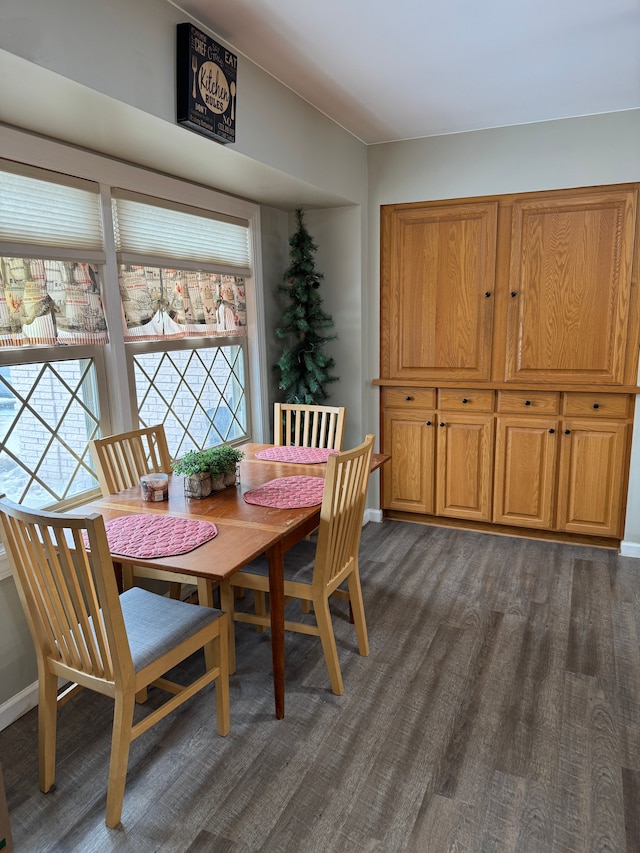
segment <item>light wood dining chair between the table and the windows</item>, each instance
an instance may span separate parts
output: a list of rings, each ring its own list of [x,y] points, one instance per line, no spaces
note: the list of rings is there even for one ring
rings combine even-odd
[[[89,442],[96,475],[103,495],[114,495],[140,483],[144,474],[171,471],[171,456],[162,424],[134,429]],[[169,584],[171,598],[180,598],[182,585],[193,584],[193,578],[122,563],[122,586],[129,589],[136,578],[151,578]]]

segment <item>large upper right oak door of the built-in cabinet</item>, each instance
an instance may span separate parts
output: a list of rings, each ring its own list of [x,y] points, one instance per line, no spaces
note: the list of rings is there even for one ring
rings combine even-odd
[[[635,193],[516,201],[505,379],[624,380]]]

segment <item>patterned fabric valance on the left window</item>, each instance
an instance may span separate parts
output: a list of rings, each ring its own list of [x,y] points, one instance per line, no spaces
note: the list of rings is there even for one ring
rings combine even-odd
[[[97,267],[0,258],[0,346],[108,341]]]

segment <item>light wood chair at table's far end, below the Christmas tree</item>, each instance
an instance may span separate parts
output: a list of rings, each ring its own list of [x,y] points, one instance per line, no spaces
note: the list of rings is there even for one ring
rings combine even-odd
[[[275,403],[273,443],[277,446],[295,445],[342,450],[346,412],[344,406]]]

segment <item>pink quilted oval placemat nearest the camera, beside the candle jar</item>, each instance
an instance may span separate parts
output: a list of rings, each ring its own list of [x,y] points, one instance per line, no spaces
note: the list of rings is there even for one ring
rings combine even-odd
[[[147,560],[186,554],[218,534],[210,521],[166,515],[121,515],[105,528],[112,554]]]

